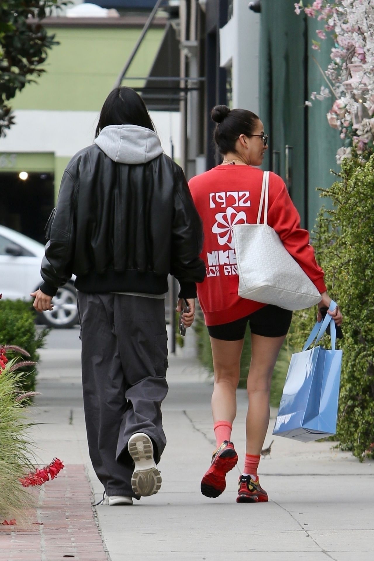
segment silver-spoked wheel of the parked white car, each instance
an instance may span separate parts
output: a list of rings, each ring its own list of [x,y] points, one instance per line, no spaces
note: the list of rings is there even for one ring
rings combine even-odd
[[[53,310],[41,314],[41,321],[56,329],[70,328],[78,323],[77,292],[71,284],[59,288],[52,298]]]

